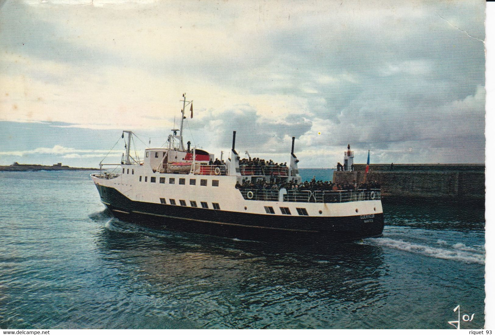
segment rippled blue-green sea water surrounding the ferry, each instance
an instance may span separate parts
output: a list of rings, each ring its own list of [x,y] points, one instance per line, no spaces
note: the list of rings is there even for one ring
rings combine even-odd
[[[272,245],[120,221],[89,174],[0,173],[0,328],[484,325],[482,207],[385,203],[383,237]]]

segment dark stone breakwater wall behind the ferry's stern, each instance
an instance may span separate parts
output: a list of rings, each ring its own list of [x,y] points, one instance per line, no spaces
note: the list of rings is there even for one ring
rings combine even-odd
[[[334,171],[333,181],[362,183],[365,164],[354,171]],[[483,164],[370,164],[367,180],[376,180],[384,202],[435,199],[485,203]]]

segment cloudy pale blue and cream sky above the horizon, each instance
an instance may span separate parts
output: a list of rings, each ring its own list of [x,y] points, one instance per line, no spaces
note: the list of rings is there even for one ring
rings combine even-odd
[[[122,129],[161,146],[184,92],[186,141],[217,156],[237,130],[279,162],[296,136],[300,167],[347,143],[483,163],[484,22],[482,0],[0,0],[0,165],[96,167]]]

